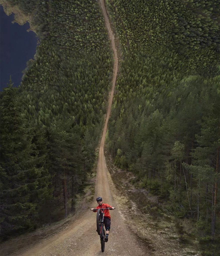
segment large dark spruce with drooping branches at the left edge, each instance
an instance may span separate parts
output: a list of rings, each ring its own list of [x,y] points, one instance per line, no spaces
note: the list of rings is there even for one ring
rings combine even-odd
[[[45,197],[47,172],[22,117],[10,80],[1,100],[1,234],[32,229],[37,201]]]

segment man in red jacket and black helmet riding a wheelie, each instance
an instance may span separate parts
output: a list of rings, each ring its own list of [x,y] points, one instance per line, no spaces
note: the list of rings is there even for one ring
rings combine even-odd
[[[115,209],[115,207],[112,207],[111,205],[104,204],[102,202],[102,197],[100,197],[100,196],[98,196],[96,198],[96,201],[98,203],[98,206],[96,208],[92,208],[91,211],[97,212],[97,210],[100,209],[100,208],[112,208],[110,210],[114,210]],[[106,230],[105,242],[108,242],[108,235],[109,235],[109,230],[110,230],[110,227],[111,227],[111,215],[110,215],[108,209],[104,210],[104,214],[105,214],[105,216],[104,216],[104,224],[105,224],[105,230]]]

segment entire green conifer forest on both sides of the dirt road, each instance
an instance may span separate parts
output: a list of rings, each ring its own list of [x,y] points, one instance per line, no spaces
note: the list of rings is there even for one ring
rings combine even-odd
[[[96,162],[113,53],[95,0],[8,0],[39,44],[1,92],[1,238],[74,212]],[[106,0],[119,71],[105,147],[218,255],[220,2]],[[143,209],[144,211],[144,209]]]

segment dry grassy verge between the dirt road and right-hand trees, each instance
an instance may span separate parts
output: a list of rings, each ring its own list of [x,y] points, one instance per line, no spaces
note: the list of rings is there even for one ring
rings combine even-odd
[[[119,212],[152,255],[200,256],[199,241],[192,235],[190,220],[169,214],[159,197],[134,186],[133,173],[115,167],[107,152],[105,159]]]

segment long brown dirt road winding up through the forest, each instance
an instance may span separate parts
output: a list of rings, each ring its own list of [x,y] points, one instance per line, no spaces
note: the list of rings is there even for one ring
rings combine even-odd
[[[106,27],[108,29],[109,38],[111,40],[112,49],[114,51],[114,74],[112,82],[111,97],[105,121],[105,126],[102,134],[99,158],[97,166],[97,177],[95,183],[95,197],[93,199],[92,207],[96,207],[95,198],[102,196],[103,201],[107,202],[116,210],[110,211],[112,216],[112,225],[109,233],[109,241],[105,245],[105,252],[101,252],[100,238],[96,233],[96,213],[84,210],[78,219],[73,221],[68,227],[64,227],[60,233],[57,233],[50,238],[42,240],[42,242],[26,249],[23,252],[15,252],[13,255],[19,256],[46,256],[46,255],[66,255],[66,256],[91,256],[91,255],[148,255],[144,244],[139,243],[136,237],[129,231],[126,226],[123,216],[120,214],[120,209],[117,202],[114,200],[114,191],[110,190],[111,178],[107,175],[107,168],[104,156],[104,142],[107,130],[108,119],[111,111],[112,99],[114,94],[114,87],[116,82],[118,70],[117,51],[114,42],[114,35],[112,33],[109,20],[107,17],[104,1],[100,1],[103,15],[105,17]],[[31,247],[31,245],[29,246]],[[3,255],[3,254],[2,254]],[[10,255],[12,256],[12,255]]]

